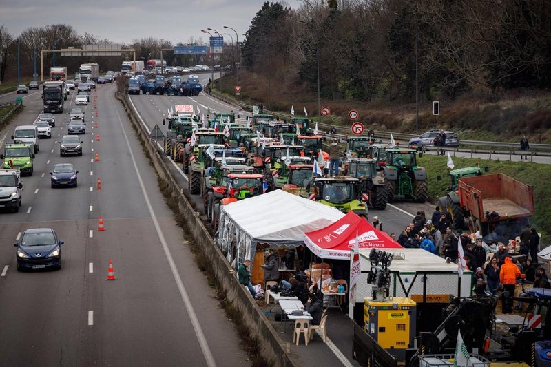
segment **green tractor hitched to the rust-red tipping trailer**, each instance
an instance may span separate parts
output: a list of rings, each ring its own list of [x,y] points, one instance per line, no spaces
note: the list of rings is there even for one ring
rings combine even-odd
[[[485,167],[484,170],[488,172],[488,167]],[[466,216],[459,203],[459,195],[457,195],[457,180],[464,177],[481,176],[482,174],[482,169],[478,166],[458,168],[448,172],[450,180],[450,185],[447,189],[448,193],[446,196],[438,199],[438,204],[440,209],[445,208],[448,211],[451,217],[450,221],[455,228],[468,228]],[[441,176],[437,176],[437,180],[441,180]]]

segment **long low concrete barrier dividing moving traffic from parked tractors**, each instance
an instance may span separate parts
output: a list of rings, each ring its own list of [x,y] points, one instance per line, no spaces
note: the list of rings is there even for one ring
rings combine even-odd
[[[297,361],[293,361],[285,352],[287,342],[283,342],[278,333],[271,326],[260,307],[254,302],[251,293],[244,286],[241,286],[234,275],[230,274],[231,266],[222,254],[222,251],[216,247],[214,239],[209,230],[202,223],[198,212],[194,210],[191,203],[183,194],[182,187],[171,176],[170,171],[165,165],[164,159],[156,145],[149,139],[149,134],[139,122],[132,107],[129,107],[127,96],[117,94],[117,98],[123,103],[125,110],[134,127],[141,136],[144,146],[149,153],[152,164],[158,176],[167,184],[174,202],[178,203],[177,215],[183,222],[187,223],[187,232],[194,239],[196,249],[201,251],[205,258],[211,262],[211,276],[213,276],[220,288],[225,291],[227,301],[238,310],[242,316],[240,322],[244,323],[249,331],[249,337],[258,342],[260,354],[270,366],[298,366]],[[260,322],[259,322],[260,321]]]

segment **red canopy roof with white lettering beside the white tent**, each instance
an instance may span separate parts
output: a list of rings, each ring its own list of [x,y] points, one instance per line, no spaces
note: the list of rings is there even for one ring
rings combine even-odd
[[[304,243],[320,258],[350,260],[356,233],[360,249],[402,249],[386,232],[375,229],[353,211],[328,227],[304,233]]]

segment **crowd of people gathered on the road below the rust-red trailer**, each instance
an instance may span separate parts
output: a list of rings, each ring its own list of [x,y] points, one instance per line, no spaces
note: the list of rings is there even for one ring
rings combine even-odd
[[[424,249],[453,263],[458,262],[461,244],[466,269],[474,273],[474,293],[494,296],[505,293],[503,312],[510,312],[510,297],[519,282],[551,288],[545,268],[537,266],[539,235],[536,229],[529,226],[519,233],[520,242],[514,242],[512,252],[515,256],[511,256],[509,244],[496,241],[486,244],[477,233],[456,231],[448,213],[439,206],[430,218],[424,211],[418,211],[404,231],[397,238],[395,233],[391,233],[391,238],[403,247]]]

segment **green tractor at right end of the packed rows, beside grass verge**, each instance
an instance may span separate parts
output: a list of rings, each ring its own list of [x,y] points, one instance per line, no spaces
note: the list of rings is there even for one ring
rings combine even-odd
[[[419,153],[422,156],[422,153]],[[388,201],[408,198],[425,202],[428,197],[426,171],[417,166],[417,151],[408,148],[386,149],[386,165],[383,167],[386,178]]]

